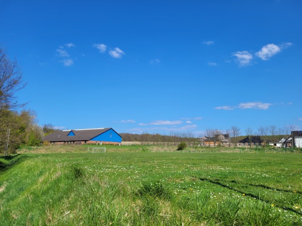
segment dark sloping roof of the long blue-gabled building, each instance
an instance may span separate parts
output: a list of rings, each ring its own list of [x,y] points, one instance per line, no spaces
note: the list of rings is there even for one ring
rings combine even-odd
[[[93,139],[93,138],[95,138],[95,137],[97,137],[97,136],[99,136],[99,135],[107,132],[110,129],[112,129],[112,128],[55,131],[54,133],[45,136],[44,137],[44,141],[49,141],[49,142],[59,142],[59,141],[89,141],[89,140],[91,140],[91,139]],[[74,134],[74,136],[68,136],[68,134],[71,133],[71,132]]]

